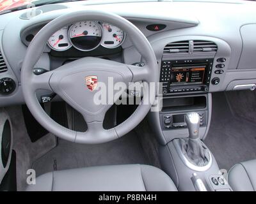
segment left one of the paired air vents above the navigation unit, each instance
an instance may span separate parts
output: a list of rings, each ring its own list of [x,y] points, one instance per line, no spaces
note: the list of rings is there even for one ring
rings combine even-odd
[[[169,43],[164,47],[164,54],[186,54],[189,52],[189,41]]]

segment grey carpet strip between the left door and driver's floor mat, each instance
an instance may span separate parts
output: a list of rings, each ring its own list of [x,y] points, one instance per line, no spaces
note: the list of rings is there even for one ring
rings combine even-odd
[[[36,142],[31,142],[26,130],[21,106],[6,108],[13,126],[13,150],[16,152],[17,191],[24,191],[31,163],[56,146],[56,137],[48,133]]]

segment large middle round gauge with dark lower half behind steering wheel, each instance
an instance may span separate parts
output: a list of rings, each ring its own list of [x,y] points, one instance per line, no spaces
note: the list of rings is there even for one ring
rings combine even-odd
[[[72,45],[78,50],[90,51],[100,45],[102,31],[97,22],[86,20],[71,25],[69,37]]]

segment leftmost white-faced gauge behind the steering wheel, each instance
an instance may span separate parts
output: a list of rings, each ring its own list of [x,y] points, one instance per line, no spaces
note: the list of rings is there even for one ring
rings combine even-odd
[[[52,34],[48,40],[48,45],[52,50],[57,51],[64,51],[70,48],[72,45],[68,40],[68,26],[63,27],[56,33]]]

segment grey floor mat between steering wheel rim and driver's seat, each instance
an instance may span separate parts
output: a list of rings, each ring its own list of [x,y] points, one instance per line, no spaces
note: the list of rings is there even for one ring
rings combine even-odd
[[[32,168],[36,176],[52,170],[66,170],[109,164],[148,164],[138,136],[131,131],[113,142],[82,145],[60,140],[57,147],[45,154]]]

